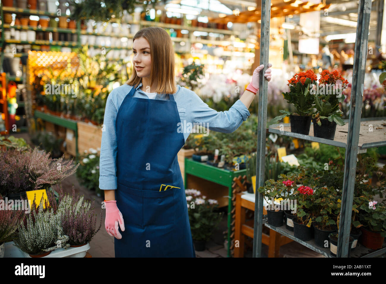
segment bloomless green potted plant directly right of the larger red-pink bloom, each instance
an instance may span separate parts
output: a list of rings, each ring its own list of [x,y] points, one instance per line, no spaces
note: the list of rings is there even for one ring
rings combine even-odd
[[[338,208],[338,194],[334,187],[318,188],[312,206],[312,220],[315,232],[315,245],[329,245],[328,235],[337,230],[334,213]]]

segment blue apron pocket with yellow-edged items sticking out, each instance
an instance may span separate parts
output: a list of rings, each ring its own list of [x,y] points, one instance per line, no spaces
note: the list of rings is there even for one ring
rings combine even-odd
[[[174,224],[176,205],[174,191],[143,190],[144,226]]]

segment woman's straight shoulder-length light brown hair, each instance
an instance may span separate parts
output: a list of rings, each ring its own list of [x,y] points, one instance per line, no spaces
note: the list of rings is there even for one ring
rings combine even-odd
[[[174,94],[177,91],[174,81],[174,49],[170,35],[161,27],[147,27],[139,30],[133,38],[143,37],[149,42],[151,54],[150,85],[157,81],[157,93]],[[131,78],[126,82],[138,86],[142,78],[133,68]]]

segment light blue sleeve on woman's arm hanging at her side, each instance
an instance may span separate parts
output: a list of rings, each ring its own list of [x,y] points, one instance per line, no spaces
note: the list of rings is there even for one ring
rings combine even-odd
[[[117,133],[115,120],[118,110],[108,95],[105,116],[102,125],[102,142],[100,145],[99,188],[117,189]]]

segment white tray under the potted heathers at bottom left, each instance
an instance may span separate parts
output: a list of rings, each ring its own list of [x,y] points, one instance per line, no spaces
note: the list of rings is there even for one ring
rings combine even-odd
[[[4,244],[4,257],[29,257],[30,256],[21,251],[14,245],[14,242],[7,242]],[[56,249],[45,257],[85,257],[86,252],[90,249],[90,243],[82,247],[69,247],[68,249]]]

